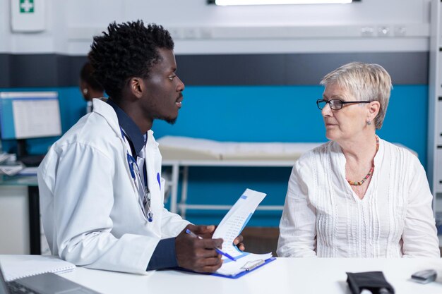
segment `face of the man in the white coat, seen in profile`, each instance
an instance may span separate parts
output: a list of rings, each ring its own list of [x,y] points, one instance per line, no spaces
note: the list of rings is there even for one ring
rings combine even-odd
[[[160,60],[150,68],[150,75],[144,80],[147,91],[141,107],[148,119],[161,119],[174,123],[183,100],[184,83],[175,74],[177,63],[174,52],[158,49]]]

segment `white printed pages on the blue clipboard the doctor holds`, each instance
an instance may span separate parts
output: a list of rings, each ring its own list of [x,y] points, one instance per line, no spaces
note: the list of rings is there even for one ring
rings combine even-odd
[[[227,212],[217,229],[213,233],[213,238],[222,238],[222,251],[234,257],[236,261],[227,259],[223,256],[223,264],[215,274],[222,276],[237,276],[245,271],[251,271],[256,267],[265,264],[265,262],[272,257],[272,253],[264,255],[256,255],[249,252],[243,252],[233,245],[234,238],[241,233],[241,231],[249,222],[249,219],[255,212],[258,204],[263,201],[266,194],[262,192],[246,189],[239,197],[234,206]]]

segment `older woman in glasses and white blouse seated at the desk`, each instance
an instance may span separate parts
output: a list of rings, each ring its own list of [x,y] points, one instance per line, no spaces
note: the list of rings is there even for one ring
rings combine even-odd
[[[390,75],[377,64],[354,62],[325,75],[321,85],[316,104],[330,141],[294,164],[277,254],[440,257],[419,159],[376,135],[386,116]]]

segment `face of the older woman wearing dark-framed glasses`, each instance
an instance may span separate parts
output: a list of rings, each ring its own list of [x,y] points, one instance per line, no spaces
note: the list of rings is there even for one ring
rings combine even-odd
[[[331,84],[325,87],[323,99],[341,99],[342,101],[356,101],[356,97],[338,85]],[[321,114],[325,123],[325,137],[328,140],[348,140],[362,132],[366,126],[368,104],[344,104],[342,109],[330,109],[326,104]]]

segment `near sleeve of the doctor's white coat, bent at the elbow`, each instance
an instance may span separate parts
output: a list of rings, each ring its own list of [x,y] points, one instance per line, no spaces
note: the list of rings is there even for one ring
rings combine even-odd
[[[47,201],[41,204],[42,212],[53,211],[52,220],[42,215],[45,228],[53,222],[48,233],[54,239],[49,241],[52,254],[92,269],[145,273],[159,238],[135,234],[116,238],[110,233],[114,159],[80,143],[51,149],[47,157],[58,160],[41,171],[44,186],[40,190],[53,191],[53,203],[43,197]]]

